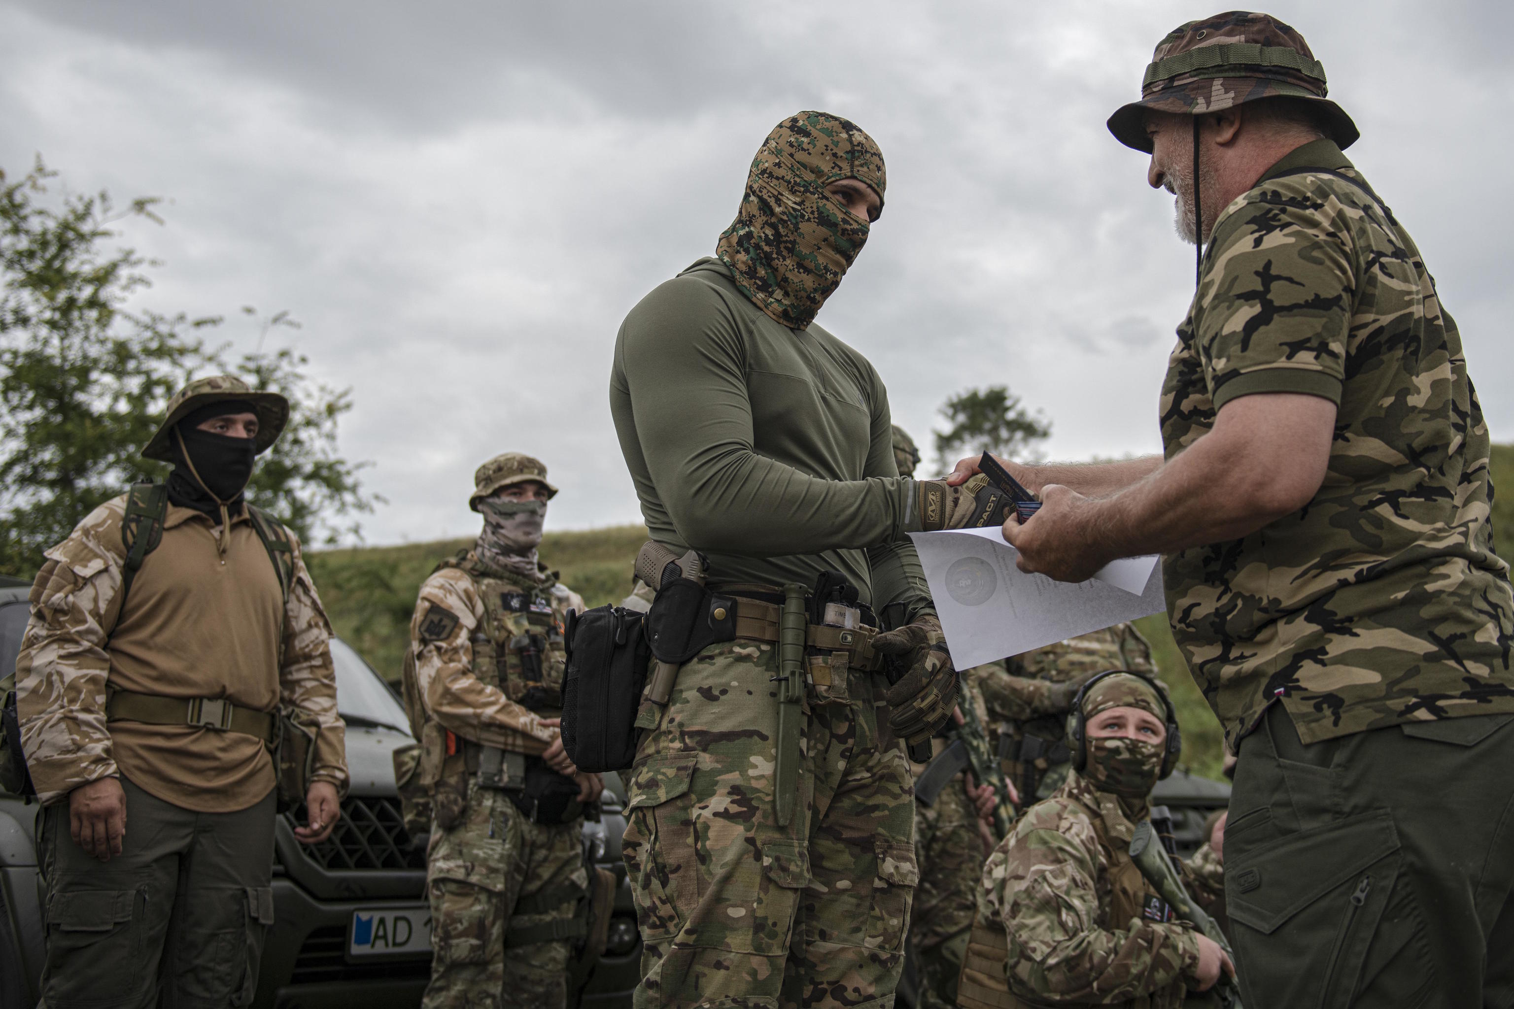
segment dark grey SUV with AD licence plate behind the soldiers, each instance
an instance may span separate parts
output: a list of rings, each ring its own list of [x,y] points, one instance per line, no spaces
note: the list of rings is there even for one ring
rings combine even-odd
[[[15,669],[26,628],[29,584],[0,581],[0,669]],[[347,722],[351,790],[332,837],[295,841],[285,814],[274,832],[274,926],[268,932],[254,1006],[416,1006],[430,974],[425,837],[400,817],[391,755],[410,743],[404,708],[388,684],[344,641],[332,641],[336,703]],[[625,791],[607,776],[600,823],[586,823],[584,849],[616,874],[610,939],[597,961],[580,955],[569,991],[584,1007],[630,1006],[640,941],[621,862]],[[36,870],[36,805],[0,794],[0,1009],[38,1001],[42,970],[42,883]]]

